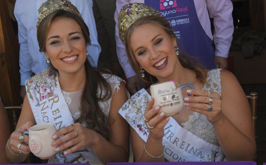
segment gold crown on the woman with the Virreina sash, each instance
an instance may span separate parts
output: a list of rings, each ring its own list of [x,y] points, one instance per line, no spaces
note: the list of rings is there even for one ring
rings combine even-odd
[[[139,18],[145,16],[161,16],[160,12],[144,3],[130,3],[124,5],[118,16],[119,37],[125,45],[126,30]]]

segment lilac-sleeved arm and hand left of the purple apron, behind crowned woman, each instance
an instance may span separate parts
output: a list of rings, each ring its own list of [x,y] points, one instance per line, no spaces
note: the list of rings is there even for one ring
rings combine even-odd
[[[128,58],[125,52],[125,45],[122,43],[122,41],[119,38],[117,19],[118,19],[118,15],[120,13],[121,8],[128,3],[134,3],[134,2],[144,3],[144,0],[116,0],[116,10],[115,10],[115,17],[114,17],[115,18],[115,41],[116,41],[117,57],[120,62],[120,65],[122,66],[125,72],[125,76],[127,78],[127,87],[129,88],[132,94],[140,90],[143,86],[141,84],[143,83],[141,82],[142,80],[136,75],[135,71],[130,65],[130,62],[128,61]]]

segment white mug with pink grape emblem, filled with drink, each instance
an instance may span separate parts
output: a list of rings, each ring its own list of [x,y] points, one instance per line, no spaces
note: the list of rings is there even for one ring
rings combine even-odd
[[[40,159],[49,159],[56,155],[56,146],[52,146],[54,133],[56,133],[56,128],[53,123],[43,123],[30,127],[23,135],[29,135],[28,145],[35,156]]]

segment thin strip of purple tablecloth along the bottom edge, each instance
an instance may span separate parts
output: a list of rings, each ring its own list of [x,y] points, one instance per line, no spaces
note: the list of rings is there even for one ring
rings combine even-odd
[[[256,165],[256,162],[149,162],[149,163],[108,163],[107,165]],[[264,165],[264,164],[263,164]],[[266,164],[265,164],[266,165]]]

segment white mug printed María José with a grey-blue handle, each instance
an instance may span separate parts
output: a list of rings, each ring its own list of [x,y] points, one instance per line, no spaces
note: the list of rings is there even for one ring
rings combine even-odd
[[[151,85],[151,97],[154,99],[153,105],[159,105],[161,107],[158,114],[161,112],[164,112],[165,116],[179,114],[184,106],[184,97],[182,95],[182,89],[184,87],[195,89],[192,84],[180,86],[177,80]]]

